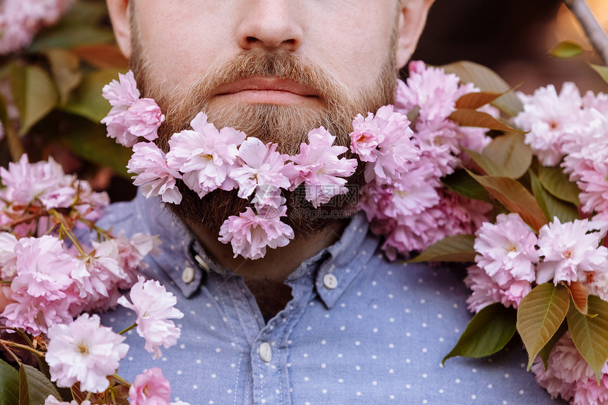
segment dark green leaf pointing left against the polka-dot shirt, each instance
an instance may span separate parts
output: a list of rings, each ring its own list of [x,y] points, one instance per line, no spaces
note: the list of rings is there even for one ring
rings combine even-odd
[[[515,310],[501,303],[484,307],[471,319],[456,346],[441,363],[455,356],[479,358],[496,353],[513,338],[516,318]]]

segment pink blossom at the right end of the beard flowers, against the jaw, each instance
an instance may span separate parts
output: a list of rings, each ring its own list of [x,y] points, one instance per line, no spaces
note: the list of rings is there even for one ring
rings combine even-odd
[[[399,180],[408,163],[419,160],[421,152],[411,143],[409,124],[392,105],[380,107],[375,115],[370,112],[365,118],[359,114],[353,120],[351,151],[368,163],[366,182]]]

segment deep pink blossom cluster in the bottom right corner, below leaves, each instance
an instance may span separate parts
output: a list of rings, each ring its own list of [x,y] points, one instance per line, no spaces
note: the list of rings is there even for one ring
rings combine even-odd
[[[556,343],[547,369],[537,360],[532,365],[538,384],[551,394],[552,398],[562,397],[573,405],[605,404],[608,401],[608,363],[602,368],[600,384],[595,372],[580,356],[568,332]]]

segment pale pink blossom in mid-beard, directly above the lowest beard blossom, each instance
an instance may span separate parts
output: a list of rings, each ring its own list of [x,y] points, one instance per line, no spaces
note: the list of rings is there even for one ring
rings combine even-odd
[[[230,172],[230,177],[238,184],[238,196],[247,199],[255,193],[255,204],[278,208],[283,205],[279,189],[291,186],[289,172],[295,172],[293,165],[286,167],[288,155],[276,152],[276,143],[264,145],[257,138],[247,138],[238,148],[238,167]],[[287,174],[287,175],[286,175]],[[296,172],[297,174],[297,172]],[[290,175],[293,176],[293,175]]]

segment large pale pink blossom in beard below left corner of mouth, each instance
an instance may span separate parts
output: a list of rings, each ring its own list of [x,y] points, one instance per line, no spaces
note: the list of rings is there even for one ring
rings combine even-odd
[[[169,139],[169,168],[181,172],[184,183],[200,197],[218,188],[235,188],[236,183],[228,175],[235,168],[238,146],[246,135],[233,128],[218,131],[203,112],[190,125],[192,130],[173,134]]]

